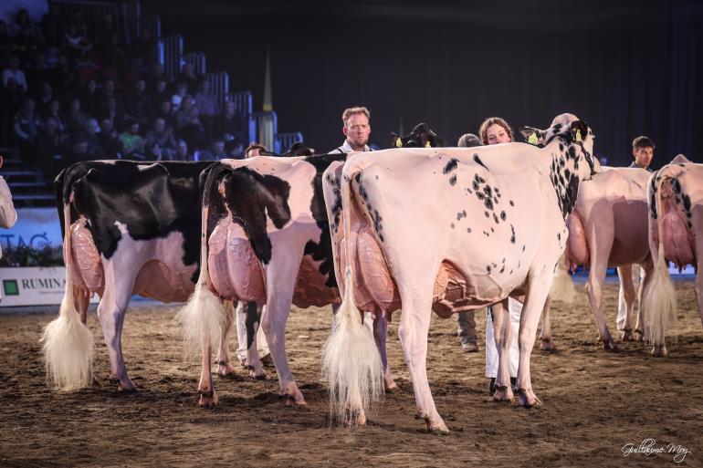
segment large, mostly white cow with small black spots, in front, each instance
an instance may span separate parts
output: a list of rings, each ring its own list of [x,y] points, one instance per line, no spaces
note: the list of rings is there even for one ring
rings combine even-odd
[[[512,400],[505,326],[509,296],[526,295],[519,330],[519,403],[538,402],[530,353],[566,218],[579,184],[598,172],[593,133],[571,114],[553,120],[543,149],[507,143],[468,149],[357,153],[323,180],[343,272],[340,326],[325,348],[333,410],[350,422],[381,395],[381,365],[357,307],[387,315],[402,306],[398,330],[413,380],[417,417],[447,432],[427,380],[433,306],[494,307],[500,365],[498,400]],[[502,306],[502,307],[500,307]],[[370,357],[371,356],[371,357]]]

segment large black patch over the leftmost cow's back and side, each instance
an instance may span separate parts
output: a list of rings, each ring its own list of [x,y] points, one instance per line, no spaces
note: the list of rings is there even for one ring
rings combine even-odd
[[[184,265],[200,260],[200,173],[212,162],[86,161],[58,174],[54,187],[64,230],[64,203],[74,203],[70,223],[85,216],[100,255],[111,258],[122,237],[116,221],[135,240],[184,235]],[[191,277],[197,280],[199,268]]]

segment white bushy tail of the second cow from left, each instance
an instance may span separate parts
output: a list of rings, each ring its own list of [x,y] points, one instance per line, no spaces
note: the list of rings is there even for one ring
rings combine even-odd
[[[205,200],[207,192],[205,192]],[[207,216],[208,206],[203,203],[200,234],[200,275],[193,294],[178,311],[176,320],[184,334],[184,347],[187,353],[196,354],[205,343],[217,348],[219,340],[232,324],[232,307],[210,289],[210,272],[207,265]],[[205,349],[202,349],[206,352]]]

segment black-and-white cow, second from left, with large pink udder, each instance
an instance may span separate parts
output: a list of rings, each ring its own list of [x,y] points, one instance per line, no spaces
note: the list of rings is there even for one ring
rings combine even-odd
[[[210,348],[227,321],[222,299],[256,302],[259,308],[267,305],[262,318],[247,318],[247,328],[256,334],[261,322],[280,395],[288,398],[288,404],[305,404],[286,356],[286,321],[291,303],[334,308],[340,304],[321,177],[332,161],[345,158],[342,153],[259,156],[223,160],[209,171],[202,207],[204,266],[194,296],[179,313],[187,340],[204,344],[200,405],[218,402]],[[377,317],[373,330],[385,356],[385,317]],[[249,347],[254,343],[250,340]],[[250,350],[248,356],[255,374],[263,375],[256,352]],[[379,382],[387,390],[397,389],[387,365],[384,369]]]

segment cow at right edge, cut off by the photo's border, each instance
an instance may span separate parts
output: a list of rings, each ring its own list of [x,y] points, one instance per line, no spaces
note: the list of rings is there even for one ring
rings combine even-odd
[[[677,317],[674,285],[667,262],[696,270],[698,311],[703,320],[703,164],[678,155],[652,174],[648,183],[649,248],[655,261],[654,279],[645,286],[647,338],[654,356],[666,356],[666,328]]]

